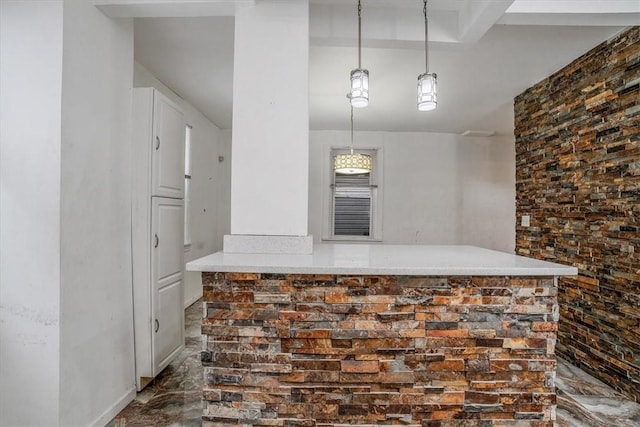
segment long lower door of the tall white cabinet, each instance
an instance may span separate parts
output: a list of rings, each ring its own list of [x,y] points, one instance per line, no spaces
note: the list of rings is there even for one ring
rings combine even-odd
[[[154,376],[171,362],[184,344],[183,218],[182,200],[152,199],[151,321]]]

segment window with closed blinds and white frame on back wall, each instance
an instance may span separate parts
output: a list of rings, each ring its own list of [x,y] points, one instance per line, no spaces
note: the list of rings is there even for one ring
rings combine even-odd
[[[327,196],[325,205],[325,240],[381,240],[381,150],[358,149],[355,152],[372,158],[369,173],[344,175],[333,171],[333,157],[347,149],[329,149]]]

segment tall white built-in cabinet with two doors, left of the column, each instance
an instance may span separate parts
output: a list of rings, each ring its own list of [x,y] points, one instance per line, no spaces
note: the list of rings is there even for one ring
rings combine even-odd
[[[136,385],[184,348],[184,135],[180,108],[133,90],[132,257]]]

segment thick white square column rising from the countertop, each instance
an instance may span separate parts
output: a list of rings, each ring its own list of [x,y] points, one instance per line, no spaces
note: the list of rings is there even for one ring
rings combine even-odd
[[[231,235],[225,252],[310,253],[309,2],[236,13]]]

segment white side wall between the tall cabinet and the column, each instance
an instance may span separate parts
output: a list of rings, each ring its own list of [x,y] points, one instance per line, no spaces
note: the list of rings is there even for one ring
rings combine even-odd
[[[225,210],[225,207],[219,205],[219,195],[223,191],[221,174],[225,168],[228,168],[227,165],[230,165],[230,159],[220,151],[220,129],[137,62],[134,65],[133,86],[158,89],[182,107],[187,123],[192,126],[191,248],[184,254],[185,262],[221,250],[222,237],[227,232],[226,229],[222,230],[218,223],[220,210]],[[225,156],[224,162],[218,161],[219,155]],[[229,181],[224,182],[228,187]],[[228,206],[227,202],[226,211],[229,210]],[[202,296],[200,274],[185,272],[184,285],[186,307]]]

